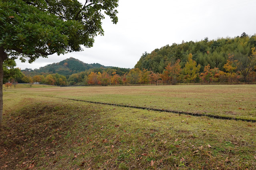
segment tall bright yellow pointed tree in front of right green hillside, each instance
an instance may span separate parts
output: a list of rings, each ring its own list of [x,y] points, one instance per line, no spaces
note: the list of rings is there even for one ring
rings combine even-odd
[[[187,63],[185,64],[185,67],[184,67],[184,77],[187,81],[195,81],[195,79],[197,77],[199,77],[199,71],[200,71],[200,68],[201,68],[201,65],[198,64],[198,66],[196,66],[196,61],[194,61],[192,59],[192,54],[190,53],[189,56],[188,56],[188,60],[187,60]]]

